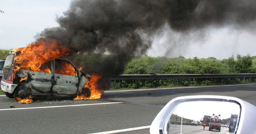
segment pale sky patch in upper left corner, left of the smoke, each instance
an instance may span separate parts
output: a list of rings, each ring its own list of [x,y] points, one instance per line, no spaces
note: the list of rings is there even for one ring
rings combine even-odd
[[[71,0],[0,0],[0,49],[26,47],[45,28],[57,27]]]

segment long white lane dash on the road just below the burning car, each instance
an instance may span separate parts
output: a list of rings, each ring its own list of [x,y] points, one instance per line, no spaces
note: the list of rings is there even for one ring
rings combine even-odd
[[[42,106],[42,107],[29,107],[29,108],[16,108],[16,109],[0,109],[0,111],[6,110],[22,110],[22,109],[48,109],[57,107],[70,107],[70,106],[90,106],[90,105],[105,105],[105,104],[117,104],[123,102],[109,102],[109,103],[97,103],[97,104],[80,104],[80,105],[64,105],[64,106]]]

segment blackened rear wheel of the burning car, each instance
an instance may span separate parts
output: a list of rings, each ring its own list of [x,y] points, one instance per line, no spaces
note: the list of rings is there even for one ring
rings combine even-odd
[[[17,100],[17,97],[20,99],[25,99],[26,97],[29,97],[29,95],[31,95],[31,90],[29,88],[19,86],[14,91],[13,97]]]

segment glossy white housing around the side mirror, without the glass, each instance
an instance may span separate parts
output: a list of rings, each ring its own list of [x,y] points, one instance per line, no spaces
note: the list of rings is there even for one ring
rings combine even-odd
[[[213,102],[232,102],[240,106],[240,115],[237,127],[234,134],[256,134],[256,106],[236,97],[217,96],[217,95],[195,95],[177,97],[168,102],[163,109],[158,113],[150,127],[150,134],[168,134],[167,124],[170,116],[183,102],[198,102],[198,101],[213,101]]]

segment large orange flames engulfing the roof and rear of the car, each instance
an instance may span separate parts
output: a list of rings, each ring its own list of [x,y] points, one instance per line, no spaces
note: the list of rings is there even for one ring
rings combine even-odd
[[[27,70],[30,68],[31,71],[50,73],[49,68],[41,67],[43,63],[73,53],[71,49],[62,46],[55,40],[44,41],[43,39],[39,39],[36,43],[32,42],[25,48],[12,51],[20,51],[20,54],[14,57],[16,62],[14,72],[19,71],[19,69]]]

